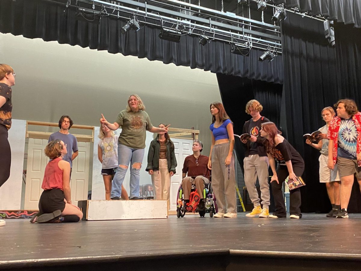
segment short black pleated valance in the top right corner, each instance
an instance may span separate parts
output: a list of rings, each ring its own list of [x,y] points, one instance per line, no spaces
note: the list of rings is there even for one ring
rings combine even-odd
[[[273,0],[273,3],[286,4],[287,8],[299,8],[300,12],[322,15],[329,20],[361,27],[360,0]]]

